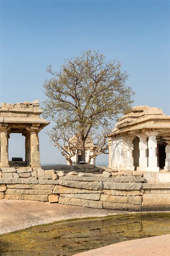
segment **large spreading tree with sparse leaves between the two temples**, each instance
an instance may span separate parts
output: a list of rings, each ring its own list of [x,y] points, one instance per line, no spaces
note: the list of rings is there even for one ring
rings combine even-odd
[[[121,72],[121,63],[106,61],[103,54],[91,50],[67,59],[59,72],[53,72],[51,66],[47,72],[53,77],[44,82],[44,117],[55,121],[57,127],[60,124],[61,130],[74,127],[85,161],[85,142],[91,129],[106,127],[131,109],[134,93],[126,86],[128,75]]]

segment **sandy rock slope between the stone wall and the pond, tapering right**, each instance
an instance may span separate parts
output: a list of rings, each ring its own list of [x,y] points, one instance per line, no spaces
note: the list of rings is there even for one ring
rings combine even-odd
[[[0,200],[0,234],[60,220],[128,213],[58,203],[3,199]]]

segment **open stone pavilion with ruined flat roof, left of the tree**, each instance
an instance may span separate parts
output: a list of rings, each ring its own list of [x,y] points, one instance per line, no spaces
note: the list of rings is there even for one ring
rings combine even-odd
[[[17,104],[1,103],[0,108],[0,166],[40,166],[38,133],[48,121],[40,118],[42,110],[39,101]],[[21,133],[25,137],[25,160],[9,161],[8,140],[11,133]],[[19,160],[19,159],[18,159]]]

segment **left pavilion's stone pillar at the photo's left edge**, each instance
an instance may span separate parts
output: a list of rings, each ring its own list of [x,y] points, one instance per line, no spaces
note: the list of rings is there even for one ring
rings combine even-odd
[[[9,167],[8,129],[6,126],[1,126],[1,167]]]

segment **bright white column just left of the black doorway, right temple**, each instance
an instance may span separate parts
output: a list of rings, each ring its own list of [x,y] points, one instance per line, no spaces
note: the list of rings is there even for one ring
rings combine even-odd
[[[157,166],[157,140],[156,135],[158,132],[150,131],[146,133],[148,135],[148,168],[147,171],[159,172],[159,167]]]

